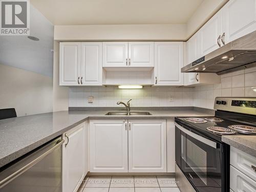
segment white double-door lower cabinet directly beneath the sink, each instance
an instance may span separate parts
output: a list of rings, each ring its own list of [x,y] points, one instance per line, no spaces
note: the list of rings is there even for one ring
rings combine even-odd
[[[166,120],[90,120],[90,172],[158,173],[166,167]]]

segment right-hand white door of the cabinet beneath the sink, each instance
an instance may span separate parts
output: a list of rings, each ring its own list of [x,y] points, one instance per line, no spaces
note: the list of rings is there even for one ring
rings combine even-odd
[[[129,172],[166,172],[166,120],[129,120]]]

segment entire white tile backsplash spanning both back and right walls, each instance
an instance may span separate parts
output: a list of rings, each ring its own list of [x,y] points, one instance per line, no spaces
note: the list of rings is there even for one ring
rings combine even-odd
[[[216,97],[256,97],[256,68],[221,75],[221,83],[195,88],[143,87],[121,90],[117,87],[71,87],[69,106],[121,106],[118,101],[131,101],[131,106],[198,106],[214,108]],[[93,103],[88,97],[93,96]]]

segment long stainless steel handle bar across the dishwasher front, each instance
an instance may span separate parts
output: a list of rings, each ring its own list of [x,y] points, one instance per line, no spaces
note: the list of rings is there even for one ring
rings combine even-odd
[[[30,154],[28,157],[25,157],[24,159],[17,162],[18,168],[15,168],[16,164],[12,165],[11,167],[8,167],[7,169],[3,170],[5,177],[2,179],[0,178],[0,189],[3,188],[5,185],[13,181],[18,176],[22,175],[26,170],[34,166],[36,163],[44,159],[46,156],[51,154],[54,150],[56,150],[58,147],[60,147],[65,141],[63,139],[55,139],[51,143],[43,146],[39,150],[35,151],[34,153]],[[28,162],[26,162],[28,161]],[[20,164],[25,164],[21,167],[19,167]],[[14,169],[14,171],[8,171],[8,169]],[[11,173],[8,173],[11,172]]]

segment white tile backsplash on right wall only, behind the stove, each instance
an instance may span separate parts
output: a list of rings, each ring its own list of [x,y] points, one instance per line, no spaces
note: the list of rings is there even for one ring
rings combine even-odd
[[[220,84],[196,87],[194,106],[214,108],[215,97],[256,97],[256,67],[221,75]]]

